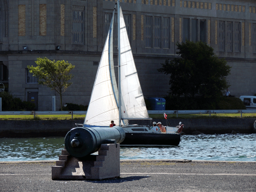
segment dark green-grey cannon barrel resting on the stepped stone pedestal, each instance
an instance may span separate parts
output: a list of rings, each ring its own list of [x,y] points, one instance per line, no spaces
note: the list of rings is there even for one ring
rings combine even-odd
[[[101,144],[121,143],[125,138],[124,130],[114,127],[76,127],[65,137],[65,148],[71,156],[81,158],[100,149]]]

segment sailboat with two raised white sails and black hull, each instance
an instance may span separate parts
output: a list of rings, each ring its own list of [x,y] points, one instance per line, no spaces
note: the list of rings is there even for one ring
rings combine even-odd
[[[121,145],[179,145],[180,134],[154,132],[150,126],[129,125],[128,120],[150,120],[127,35],[122,9],[117,0],[118,84],[113,60],[113,12],[108,36],[93,85],[83,127],[106,127],[113,120],[125,131]],[[167,129],[170,130],[170,129]],[[164,134],[165,133],[165,134]]]

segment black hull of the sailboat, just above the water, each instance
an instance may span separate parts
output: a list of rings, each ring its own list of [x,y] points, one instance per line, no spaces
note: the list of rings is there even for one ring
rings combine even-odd
[[[180,144],[180,134],[163,133],[125,133],[120,145],[173,145]]]

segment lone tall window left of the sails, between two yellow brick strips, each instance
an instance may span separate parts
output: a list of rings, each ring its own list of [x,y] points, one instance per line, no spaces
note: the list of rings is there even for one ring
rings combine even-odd
[[[73,44],[84,44],[84,10],[73,10]]]

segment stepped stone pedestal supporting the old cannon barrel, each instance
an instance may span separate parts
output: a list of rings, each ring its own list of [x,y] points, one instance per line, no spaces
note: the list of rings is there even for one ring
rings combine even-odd
[[[120,144],[102,144],[98,155],[76,158],[62,150],[52,180],[101,180],[120,177]]]

